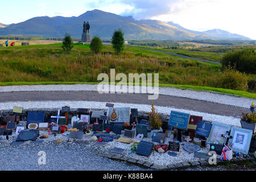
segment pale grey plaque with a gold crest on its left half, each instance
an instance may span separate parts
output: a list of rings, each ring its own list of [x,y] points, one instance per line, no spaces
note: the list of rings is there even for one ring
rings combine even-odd
[[[130,123],[130,107],[109,107],[109,122],[127,122]]]

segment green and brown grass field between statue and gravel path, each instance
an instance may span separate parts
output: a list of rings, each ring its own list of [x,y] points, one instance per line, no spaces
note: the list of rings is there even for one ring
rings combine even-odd
[[[97,83],[100,82],[97,81],[99,73],[109,74],[110,69],[115,68],[116,74],[159,73],[162,86],[255,98],[255,94],[249,92],[217,89],[220,65],[134,47],[125,47],[120,55],[115,55],[112,46],[108,45],[104,45],[101,55],[93,55],[89,44],[79,43],[74,44],[69,55],[63,52],[60,43],[0,47],[0,68],[0,85]]]

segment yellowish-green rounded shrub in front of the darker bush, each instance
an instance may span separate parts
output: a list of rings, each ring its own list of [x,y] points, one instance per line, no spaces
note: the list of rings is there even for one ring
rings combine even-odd
[[[218,87],[233,90],[247,90],[249,78],[245,73],[240,73],[230,65],[224,69],[218,79]]]

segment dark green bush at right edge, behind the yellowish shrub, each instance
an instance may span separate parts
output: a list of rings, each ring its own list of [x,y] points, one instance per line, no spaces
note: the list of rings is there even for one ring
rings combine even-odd
[[[236,51],[228,51],[222,57],[222,66],[236,67],[240,72],[255,73],[256,72],[256,52],[253,48],[237,49]]]

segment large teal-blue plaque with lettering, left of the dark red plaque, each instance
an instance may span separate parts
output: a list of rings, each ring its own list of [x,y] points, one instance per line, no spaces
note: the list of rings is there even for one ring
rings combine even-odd
[[[181,130],[187,130],[189,114],[171,111],[168,125],[176,127]]]

